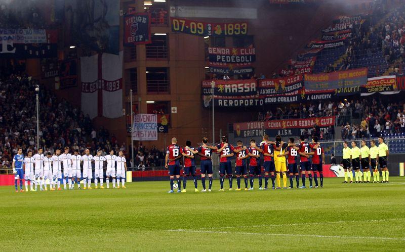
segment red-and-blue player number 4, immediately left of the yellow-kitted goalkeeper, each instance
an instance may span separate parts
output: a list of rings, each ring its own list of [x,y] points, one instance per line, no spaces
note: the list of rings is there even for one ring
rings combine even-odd
[[[273,183],[273,187],[274,187],[275,165],[274,165],[274,160],[272,159],[272,157],[274,157],[274,145],[273,144],[275,144],[275,142],[270,142],[268,135],[264,135],[263,141],[260,142],[260,148],[263,150],[262,154],[263,154],[264,189],[265,190],[267,190],[267,186],[268,186],[269,173],[271,174],[271,182]]]

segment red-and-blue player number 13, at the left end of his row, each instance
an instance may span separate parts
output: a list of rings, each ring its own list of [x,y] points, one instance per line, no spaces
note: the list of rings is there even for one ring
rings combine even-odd
[[[177,178],[177,184],[179,185],[177,192],[180,192],[181,182],[180,182],[180,158],[183,157],[182,148],[177,145],[176,137],[172,138],[172,144],[170,144],[166,149],[166,168],[169,168],[170,175],[170,191],[173,192],[174,176]]]

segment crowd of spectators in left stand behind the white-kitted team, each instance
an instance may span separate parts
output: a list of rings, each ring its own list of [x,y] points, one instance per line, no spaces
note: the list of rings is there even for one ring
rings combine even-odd
[[[0,167],[10,167],[18,147],[24,154],[28,149],[36,151],[36,85],[38,81],[26,74],[11,74],[0,80]],[[116,153],[122,150],[130,157],[131,149],[125,142],[119,143],[104,128],[96,130],[88,115],[42,87],[39,108],[39,145],[45,152],[53,154],[56,149],[69,146],[79,154],[89,148],[92,155],[97,150],[107,155],[113,149]],[[164,158],[162,151],[155,147],[148,150],[142,144],[136,147],[135,154],[136,165],[144,157],[146,166],[160,166]]]

